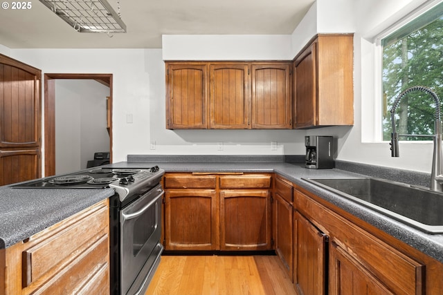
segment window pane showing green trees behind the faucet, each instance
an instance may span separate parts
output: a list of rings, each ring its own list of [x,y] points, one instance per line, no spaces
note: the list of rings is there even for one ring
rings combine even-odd
[[[443,100],[443,3],[381,40],[383,50],[383,140],[392,131],[390,108],[401,91],[427,86]],[[443,111],[443,104],[440,106]],[[399,134],[434,133],[435,102],[421,91],[408,93],[396,110]],[[400,140],[431,140],[401,137]]]

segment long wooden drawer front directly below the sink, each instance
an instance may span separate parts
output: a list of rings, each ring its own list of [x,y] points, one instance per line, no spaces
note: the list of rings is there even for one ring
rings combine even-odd
[[[345,249],[391,292],[422,294],[425,283],[424,265],[338,216],[304,193],[295,193],[297,210],[308,216],[314,225],[329,235],[331,242]]]

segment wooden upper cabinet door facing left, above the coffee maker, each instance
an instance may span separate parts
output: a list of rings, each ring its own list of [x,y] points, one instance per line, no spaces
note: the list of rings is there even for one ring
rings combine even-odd
[[[314,42],[296,59],[295,128],[314,126],[316,117],[316,46]]]

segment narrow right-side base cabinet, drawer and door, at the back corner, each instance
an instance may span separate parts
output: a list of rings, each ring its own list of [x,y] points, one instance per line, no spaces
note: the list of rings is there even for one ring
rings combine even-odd
[[[275,176],[273,194],[273,240],[289,278],[293,278],[293,188],[291,182]]]

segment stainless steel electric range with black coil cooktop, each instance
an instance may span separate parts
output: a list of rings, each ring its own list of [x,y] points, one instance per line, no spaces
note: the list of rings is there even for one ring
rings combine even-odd
[[[109,198],[111,294],[144,294],[160,263],[160,181],[165,171],[93,168],[69,175],[12,185],[33,189],[104,189]]]

